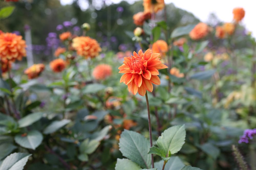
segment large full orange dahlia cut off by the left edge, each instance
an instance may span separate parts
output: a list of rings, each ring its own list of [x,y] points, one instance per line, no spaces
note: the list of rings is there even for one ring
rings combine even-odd
[[[13,33],[0,34],[0,59],[15,61],[26,56],[26,42],[22,36]]]

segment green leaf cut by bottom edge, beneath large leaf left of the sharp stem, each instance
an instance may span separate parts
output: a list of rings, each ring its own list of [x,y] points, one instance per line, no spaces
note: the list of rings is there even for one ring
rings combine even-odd
[[[117,159],[115,170],[140,170],[141,167],[129,159]]]

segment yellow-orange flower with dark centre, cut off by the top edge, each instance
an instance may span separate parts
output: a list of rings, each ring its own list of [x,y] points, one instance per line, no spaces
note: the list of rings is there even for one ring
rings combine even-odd
[[[164,0],[143,0],[144,13],[158,12],[164,9]]]

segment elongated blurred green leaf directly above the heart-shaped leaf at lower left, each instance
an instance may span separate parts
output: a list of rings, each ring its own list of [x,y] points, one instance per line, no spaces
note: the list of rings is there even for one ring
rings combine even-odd
[[[26,127],[41,119],[44,113],[37,112],[29,114],[18,121],[19,127]]]

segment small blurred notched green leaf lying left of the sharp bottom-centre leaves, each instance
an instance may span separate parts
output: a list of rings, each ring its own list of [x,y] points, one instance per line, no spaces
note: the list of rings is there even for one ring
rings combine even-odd
[[[98,148],[99,145],[100,145],[100,142],[97,140],[89,141],[89,139],[86,139],[79,146],[79,150],[81,153],[91,154]]]

